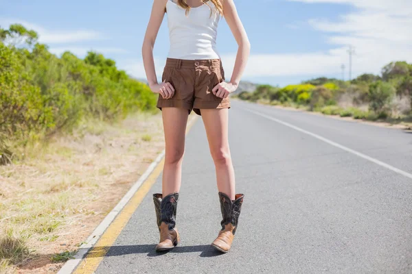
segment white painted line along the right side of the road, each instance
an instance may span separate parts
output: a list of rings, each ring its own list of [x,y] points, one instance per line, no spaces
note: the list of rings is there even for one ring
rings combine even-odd
[[[344,150],[344,151],[347,151],[347,152],[349,152],[349,153],[352,153],[352,154],[354,154],[354,155],[356,155],[356,156],[358,156],[358,157],[361,157],[361,158],[363,158],[363,159],[365,159],[365,160],[368,160],[368,161],[370,161],[370,162],[374,162],[375,164],[378,164],[378,165],[380,165],[380,166],[383,166],[383,167],[385,167],[385,168],[387,168],[387,169],[389,169],[389,170],[391,170],[391,171],[393,171],[393,172],[396,172],[396,173],[398,173],[398,174],[400,174],[400,175],[404,175],[405,177],[408,177],[409,179],[412,179],[412,174],[411,174],[411,173],[407,173],[406,171],[402,171],[401,169],[398,169],[398,168],[396,168],[395,166],[391,166],[390,164],[387,164],[387,163],[385,163],[385,162],[382,162],[382,161],[380,161],[380,160],[378,160],[378,159],[376,159],[376,158],[372,158],[372,157],[370,157],[370,156],[368,156],[368,155],[365,155],[365,154],[363,154],[363,153],[361,153],[361,152],[359,152],[359,151],[356,151],[356,150],[354,150],[354,149],[350,149],[349,147],[345,147],[344,145],[340,145],[340,144],[338,144],[337,142],[334,142],[334,141],[332,141],[332,140],[329,140],[328,138],[322,137],[322,136],[320,136],[320,135],[318,135],[318,134],[314,134],[313,132],[308,132],[308,131],[305,130],[305,129],[301,129],[300,127],[297,127],[296,125],[292,125],[292,124],[290,124],[290,123],[286,123],[286,122],[284,122],[284,121],[282,121],[282,120],[273,118],[272,116],[263,114],[263,113],[261,113],[261,112],[256,112],[256,111],[254,111],[254,110],[249,110],[249,109],[246,109],[246,108],[244,108],[244,110],[246,110],[247,112],[251,112],[251,113],[253,113],[253,114],[262,116],[262,117],[264,117],[264,118],[266,118],[266,119],[269,119],[269,120],[274,121],[274,122],[276,122],[276,123],[279,123],[279,124],[281,124],[281,125],[285,125],[286,127],[290,127],[290,128],[292,128],[292,129],[295,129],[295,130],[297,130],[298,132],[302,132],[302,133],[304,133],[304,134],[308,134],[308,135],[310,135],[310,136],[312,136],[312,137],[314,137],[314,138],[317,138],[317,139],[319,139],[319,140],[321,140],[321,141],[323,141],[323,142],[326,142],[326,143],[329,144],[329,145],[332,145],[332,146],[334,146],[334,147],[338,147],[339,149],[342,149],[342,150]]]

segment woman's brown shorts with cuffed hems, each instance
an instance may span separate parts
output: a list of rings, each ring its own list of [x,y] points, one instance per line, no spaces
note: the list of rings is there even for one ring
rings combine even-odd
[[[220,59],[180,60],[168,58],[161,79],[170,82],[174,95],[163,99],[159,95],[157,108],[185,108],[201,115],[202,109],[230,108],[229,97],[216,97],[211,90],[225,80]]]

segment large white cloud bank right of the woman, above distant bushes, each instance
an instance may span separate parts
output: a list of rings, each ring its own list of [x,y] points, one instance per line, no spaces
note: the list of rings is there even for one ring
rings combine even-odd
[[[289,0],[305,3],[349,4],[356,11],[336,21],[312,18],[308,23],[327,34],[331,49],[302,54],[251,55],[244,77],[341,75],[341,64],[348,67],[347,49],[356,50],[352,75],[380,73],[394,60],[412,62],[412,1],[410,0]],[[301,23],[299,23],[300,25]],[[297,24],[287,25],[289,28]],[[227,75],[234,55],[222,56]]]

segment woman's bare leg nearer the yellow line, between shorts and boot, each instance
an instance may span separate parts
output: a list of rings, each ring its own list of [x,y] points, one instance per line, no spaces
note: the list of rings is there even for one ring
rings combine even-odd
[[[165,164],[163,166],[162,194],[179,192],[182,179],[182,161],[185,151],[187,110],[163,108],[163,129],[165,132]]]

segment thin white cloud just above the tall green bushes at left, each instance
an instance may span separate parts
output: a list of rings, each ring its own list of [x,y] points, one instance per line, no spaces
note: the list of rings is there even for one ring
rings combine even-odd
[[[26,21],[0,18],[0,25],[3,27],[9,27],[14,23],[19,23],[25,26],[27,29],[33,29],[35,32],[38,33],[38,41],[47,45],[106,39],[106,37],[103,34],[87,29],[76,29],[70,31],[50,30],[45,29],[40,25],[36,25]]]

